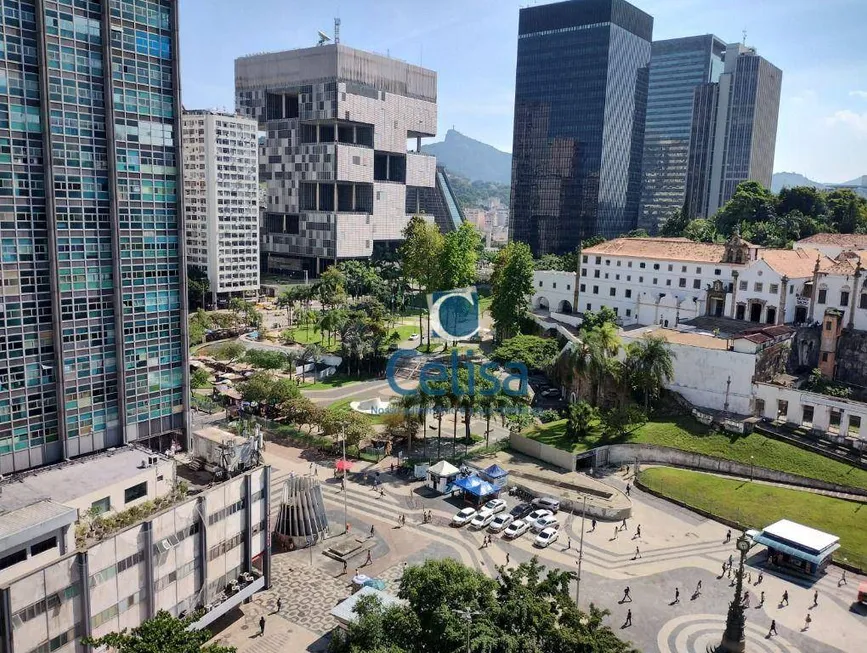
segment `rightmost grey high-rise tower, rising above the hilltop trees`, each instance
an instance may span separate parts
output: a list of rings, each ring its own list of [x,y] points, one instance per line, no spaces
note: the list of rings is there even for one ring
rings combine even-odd
[[[771,186],[783,72],[755,48],[729,44],[719,81],[696,88],[685,208],[707,217],[743,181]]]

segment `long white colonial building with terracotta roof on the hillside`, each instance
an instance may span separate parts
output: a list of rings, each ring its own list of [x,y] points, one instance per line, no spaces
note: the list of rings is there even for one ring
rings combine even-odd
[[[764,249],[737,235],[725,244],[615,238],[582,252],[571,301],[555,297],[553,284],[575,288],[574,274],[536,272],[533,308],[583,313],[607,306],[624,326],[674,327],[701,316],[806,322],[817,258],[822,268],[833,264],[816,250]]]

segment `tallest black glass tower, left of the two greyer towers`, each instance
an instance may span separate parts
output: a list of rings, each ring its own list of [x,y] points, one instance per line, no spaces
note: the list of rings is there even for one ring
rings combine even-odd
[[[521,10],[509,229],[536,255],[635,228],[652,33],[623,0]]]

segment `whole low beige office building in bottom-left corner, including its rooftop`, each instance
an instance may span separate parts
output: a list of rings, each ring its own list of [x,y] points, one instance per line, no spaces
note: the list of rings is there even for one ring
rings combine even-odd
[[[88,510],[140,507],[175,480],[173,460],[124,447],[0,485],[0,652],[85,651],[158,610],[204,607],[201,628],[267,588],[270,467],[77,541]]]

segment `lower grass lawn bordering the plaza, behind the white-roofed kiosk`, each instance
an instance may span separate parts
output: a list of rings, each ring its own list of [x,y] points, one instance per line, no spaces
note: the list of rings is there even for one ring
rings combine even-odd
[[[668,467],[645,469],[640,479],[656,492],[745,528],[791,519],[833,533],[840,537],[834,558],[867,569],[867,505]]]

